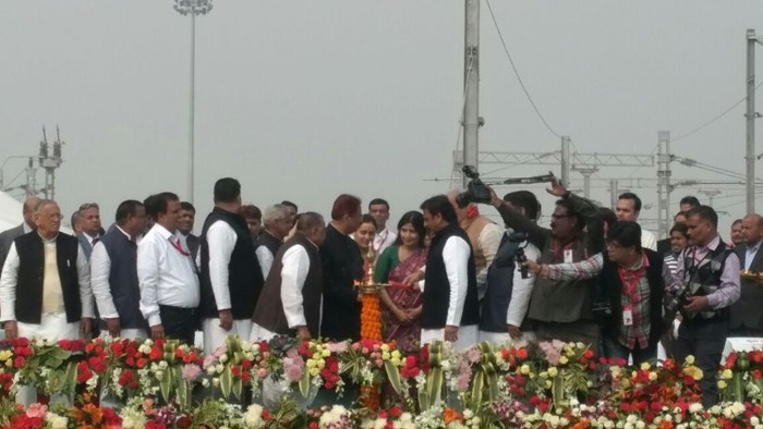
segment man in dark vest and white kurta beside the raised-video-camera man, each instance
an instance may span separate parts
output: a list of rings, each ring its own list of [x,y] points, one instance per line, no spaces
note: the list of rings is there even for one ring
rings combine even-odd
[[[529,191],[506,194],[504,200],[533,222],[541,213],[541,204]],[[540,259],[541,252],[521,238],[524,237],[514,234],[513,230],[506,231],[487,271],[485,299],[481,302],[480,341],[511,344],[522,336],[525,340],[533,338],[525,316],[535,278],[522,275],[522,266],[517,258],[523,255],[535,261]]]

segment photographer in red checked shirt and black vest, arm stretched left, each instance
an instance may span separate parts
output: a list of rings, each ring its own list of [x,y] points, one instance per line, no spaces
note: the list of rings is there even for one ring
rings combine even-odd
[[[641,247],[641,228],[620,221],[609,226],[606,253],[576,263],[543,265],[529,260],[530,272],[550,280],[593,279],[606,285],[608,317],[602,320],[605,357],[655,363],[666,285],[675,285],[662,255]]]

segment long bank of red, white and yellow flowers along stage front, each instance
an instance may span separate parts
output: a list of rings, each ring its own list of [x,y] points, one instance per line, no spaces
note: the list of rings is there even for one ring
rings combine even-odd
[[[0,368],[3,428],[763,428],[763,352],[729,356],[725,402],[710,409],[692,358],[627,367],[561,342],[403,355],[382,341],[230,336],[205,356],[174,341],[19,339],[0,343]],[[24,385],[39,403],[15,404]],[[353,385],[365,389],[351,405],[311,408],[316,394]],[[247,392],[268,405],[249,405]]]

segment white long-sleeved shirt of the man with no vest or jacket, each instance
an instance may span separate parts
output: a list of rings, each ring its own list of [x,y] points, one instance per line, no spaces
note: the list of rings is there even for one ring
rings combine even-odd
[[[161,324],[159,304],[182,308],[198,306],[198,277],[187,248],[178,250],[172,240],[180,241],[158,223],[137,246],[137,280],[141,283],[141,312],[148,326]],[[182,244],[182,241],[181,241]]]

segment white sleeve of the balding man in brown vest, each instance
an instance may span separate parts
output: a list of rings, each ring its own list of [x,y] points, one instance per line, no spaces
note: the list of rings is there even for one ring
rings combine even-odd
[[[306,326],[302,287],[310,271],[310,255],[301,245],[291,246],[281,258],[281,303],[290,329]]]

